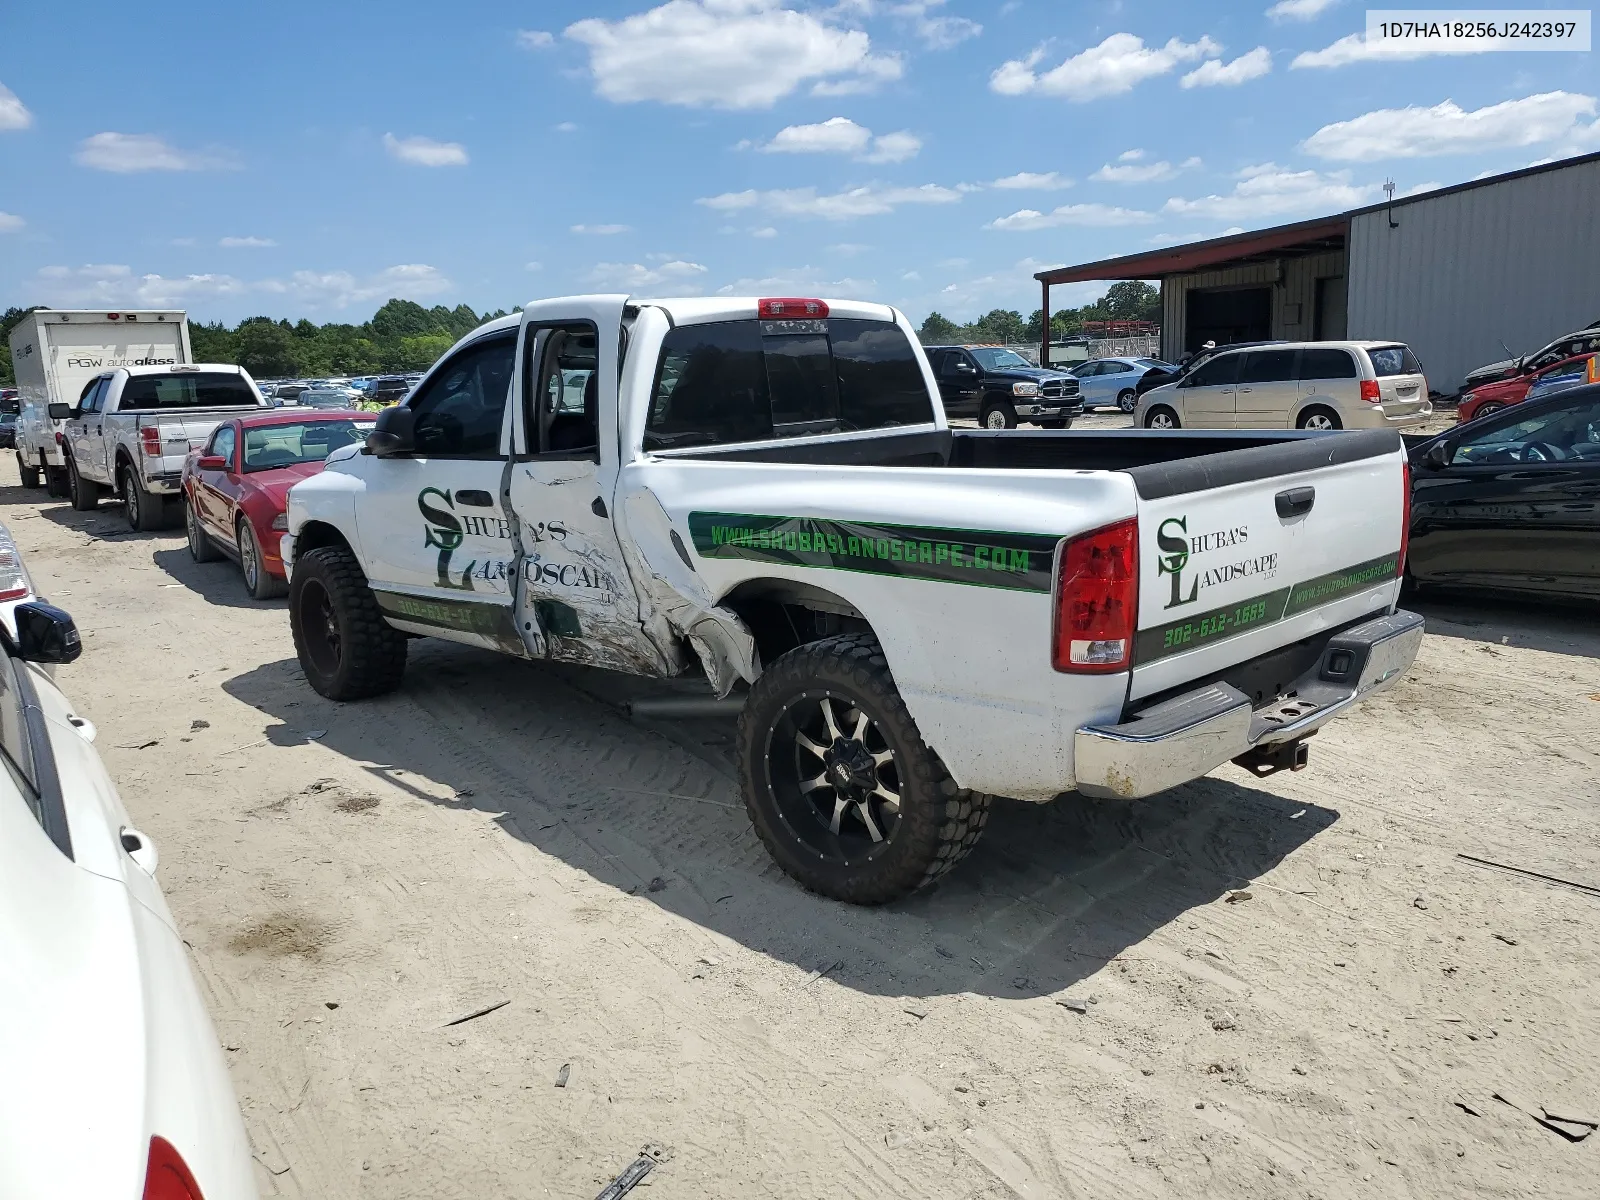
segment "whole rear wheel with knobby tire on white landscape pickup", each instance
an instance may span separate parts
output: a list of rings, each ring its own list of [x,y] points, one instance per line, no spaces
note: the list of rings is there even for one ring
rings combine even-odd
[[[776,659],[739,715],[739,778],[768,853],[811,891],[883,904],[960,862],[990,798],[955,786],[870,634]]]

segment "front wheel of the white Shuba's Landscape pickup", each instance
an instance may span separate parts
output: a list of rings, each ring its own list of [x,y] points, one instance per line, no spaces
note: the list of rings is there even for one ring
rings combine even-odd
[[[366,699],[400,686],[405,634],[384,621],[362,565],[342,546],[318,546],[294,560],[290,632],[318,696]]]

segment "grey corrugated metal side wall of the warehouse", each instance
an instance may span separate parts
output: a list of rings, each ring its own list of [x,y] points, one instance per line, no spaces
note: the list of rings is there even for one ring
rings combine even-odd
[[[1429,387],[1600,318],[1600,162],[1350,221],[1350,338],[1406,342]]]

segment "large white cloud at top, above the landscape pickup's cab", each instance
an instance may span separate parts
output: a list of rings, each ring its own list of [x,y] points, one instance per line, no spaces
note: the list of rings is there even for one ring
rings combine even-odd
[[[566,37],[589,48],[595,91],[618,104],[768,109],[805,83],[838,96],[901,77],[859,29],[778,0],[667,0],[621,21],[587,18]]]

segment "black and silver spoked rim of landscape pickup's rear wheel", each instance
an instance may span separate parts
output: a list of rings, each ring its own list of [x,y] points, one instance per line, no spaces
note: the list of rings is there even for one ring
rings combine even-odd
[[[797,696],[773,725],[766,757],[779,816],[819,858],[859,861],[899,829],[894,750],[851,701],[829,693]]]

